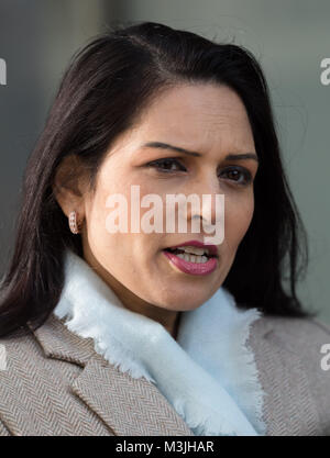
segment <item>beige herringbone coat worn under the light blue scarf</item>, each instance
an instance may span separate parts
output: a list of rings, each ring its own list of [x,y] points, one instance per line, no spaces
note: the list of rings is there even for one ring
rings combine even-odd
[[[0,435],[194,435],[158,389],[122,373],[53,314],[34,333],[0,338]],[[262,317],[251,326],[267,396],[267,435],[330,435],[330,370],[317,320]],[[3,369],[3,368],[2,368]],[[178,368],[182,370],[182,368]]]

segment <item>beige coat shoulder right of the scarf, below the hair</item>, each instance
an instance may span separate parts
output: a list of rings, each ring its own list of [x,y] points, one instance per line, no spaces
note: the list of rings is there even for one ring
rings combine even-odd
[[[282,412],[293,429],[308,432],[309,421],[314,427],[307,435],[330,435],[330,326],[315,317],[262,316],[250,331],[261,381],[270,393],[270,417]],[[299,429],[288,412],[307,423]]]

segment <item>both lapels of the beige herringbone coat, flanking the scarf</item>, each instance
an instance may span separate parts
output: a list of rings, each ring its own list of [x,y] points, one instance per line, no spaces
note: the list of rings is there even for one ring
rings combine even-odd
[[[265,316],[256,320],[249,338],[266,393],[263,409],[266,435],[299,435],[301,431],[317,435],[318,412],[304,365],[278,338],[272,323]],[[82,368],[70,388],[114,435],[194,436],[152,382],[121,372],[95,351],[91,338],[75,335],[53,313],[33,333],[47,358]]]

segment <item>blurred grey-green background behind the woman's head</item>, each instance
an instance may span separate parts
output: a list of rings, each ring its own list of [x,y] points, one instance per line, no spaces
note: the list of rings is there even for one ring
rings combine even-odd
[[[298,292],[330,323],[329,0],[0,0],[0,275],[12,250],[26,158],[43,130],[68,59],[123,21],[155,21],[251,49],[266,74],[293,193],[309,235]]]

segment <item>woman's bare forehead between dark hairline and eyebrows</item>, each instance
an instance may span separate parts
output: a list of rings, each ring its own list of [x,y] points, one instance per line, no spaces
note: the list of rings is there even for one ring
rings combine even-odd
[[[139,139],[170,138],[195,149],[212,145],[253,148],[242,100],[227,86],[213,83],[182,85],[165,90],[144,110],[133,132]]]

